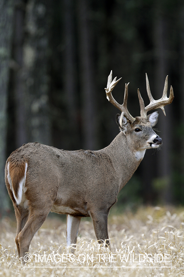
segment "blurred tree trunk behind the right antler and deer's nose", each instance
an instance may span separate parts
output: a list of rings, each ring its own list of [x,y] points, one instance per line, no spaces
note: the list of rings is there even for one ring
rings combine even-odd
[[[167,21],[161,14],[160,3],[156,2],[155,14],[155,30],[154,30],[154,44],[155,44],[155,91],[156,97],[159,99],[163,93],[165,78],[168,72],[167,66]],[[170,90],[170,88],[169,88]],[[168,92],[169,93],[169,92]],[[165,107],[166,115],[160,112],[158,121],[158,130],[161,130],[160,136],[163,139],[162,150],[158,152],[158,179],[157,188],[160,190],[160,200],[163,203],[172,202],[171,192],[171,145],[172,145],[172,122],[171,122],[171,105]]]

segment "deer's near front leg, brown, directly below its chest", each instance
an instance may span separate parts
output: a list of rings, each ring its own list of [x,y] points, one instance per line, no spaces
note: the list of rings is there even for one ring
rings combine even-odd
[[[91,217],[93,220],[94,231],[98,239],[98,243],[104,243],[106,240],[105,246],[110,247],[107,227],[108,212],[99,211],[98,213],[91,213]]]

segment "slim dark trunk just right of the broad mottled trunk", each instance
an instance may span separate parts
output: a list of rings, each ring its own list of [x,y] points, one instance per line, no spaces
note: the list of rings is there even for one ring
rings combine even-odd
[[[67,114],[69,118],[70,148],[72,150],[79,146],[79,121],[77,109],[77,68],[76,68],[76,48],[75,48],[75,22],[74,22],[74,1],[65,0],[64,17],[64,90],[67,100]]]

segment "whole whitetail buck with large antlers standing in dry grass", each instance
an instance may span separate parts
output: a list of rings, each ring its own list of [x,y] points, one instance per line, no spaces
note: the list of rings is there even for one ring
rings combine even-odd
[[[167,97],[168,76],[163,96],[155,100],[146,74],[146,88],[150,103],[145,107],[138,89],[140,116],[133,117],[127,109],[128,84],[125,84],[124,102],[120,105],[112,90],[120,81],[108,77],[106,97],[121,114],[116,115],[120,132],[109,146],[98,150],[66,151],[40,143],[23,144],[7,159],[5,182],[13,202],[17,219],[15,242],[20,260],[29,252],[35,233],[48,213],[67,215],[67,247],[75,251],[82,217],[91,217],[99,243],[109,245],[108,215],[117,202],[119,191],[136,171],[146,149],[161,146],[162,139],[152,129],[159,111],[173,101],[171,86]],[[71,247],[70,247],[71,248]]]

